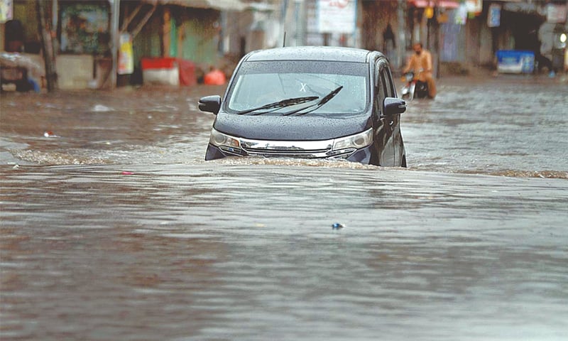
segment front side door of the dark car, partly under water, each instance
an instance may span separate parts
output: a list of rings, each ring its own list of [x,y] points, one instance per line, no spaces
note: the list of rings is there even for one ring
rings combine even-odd
[[[395,166],[395,151],[393,144],[393,117],[385,117],[383,114],[383,102],[386,97],[392,97],[392,82],[388,80],[388,63],[379,59],[376,63],[375,77],[375,106],[376,106],[376,129],[375,143],[378,151],[378,163],[380,166]]]

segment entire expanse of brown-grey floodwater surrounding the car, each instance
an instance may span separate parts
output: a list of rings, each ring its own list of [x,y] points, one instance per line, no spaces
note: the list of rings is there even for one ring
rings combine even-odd
[[[223,87],[0,94],[0,340],[567,340],[565,78],[438,85],[408,169],[203,161]]]

